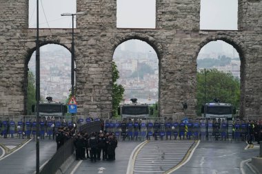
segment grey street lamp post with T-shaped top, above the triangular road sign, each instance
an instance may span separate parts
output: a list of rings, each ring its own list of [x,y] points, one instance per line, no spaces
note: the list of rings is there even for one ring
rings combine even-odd
[[[77,13],[63,13],[61,14],[62,17],[72,16],[72,45],[71,45],[71,90],[72,90],[72,97],[74,97],[74,16],[78,14],[85,14],[84,12],[77,12]]]

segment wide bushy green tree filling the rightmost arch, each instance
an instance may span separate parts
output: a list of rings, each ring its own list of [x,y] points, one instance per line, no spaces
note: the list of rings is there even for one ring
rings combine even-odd
[[[202,69],[196,74],[196,100],[198,116],[201,115],[201,105],[218,98],[220,102],[231,103],[239,108],[240,80],[231,73],[219,72],[217,69]]]

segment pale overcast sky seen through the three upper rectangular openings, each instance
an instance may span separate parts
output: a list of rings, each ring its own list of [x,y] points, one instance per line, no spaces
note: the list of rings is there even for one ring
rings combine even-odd
[[[29,0],[29,27],[36,28],[36,0]],[[39,0],[40,28],[72,28],[76,0]],[[155,28],[155,0],[117,0],[118,28]],[[201,0],[200,26],[208,30],[237,30],[237,0]],[[46,14],[46,15],[45,15]]]

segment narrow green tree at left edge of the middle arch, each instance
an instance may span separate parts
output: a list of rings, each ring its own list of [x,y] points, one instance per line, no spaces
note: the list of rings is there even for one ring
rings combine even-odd
[[[112,92],[112,113],[113,117],[117,117],[117,109],[121,100],[123,100],[123,92],[125,89],[122,85],[117,84],[117,79],[119,79],[119,71],[117,70],[116,63],[113,62],[112,65],[112,77],[113,77],[113,92]]]

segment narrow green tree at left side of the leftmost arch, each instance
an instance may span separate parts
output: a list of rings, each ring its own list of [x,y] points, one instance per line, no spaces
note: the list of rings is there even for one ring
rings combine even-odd
[[[27,100],[27,114],[32,115],[32,105],[36,104],[35,98],[35,78],[34,74],[28,71],[28,100]]]

